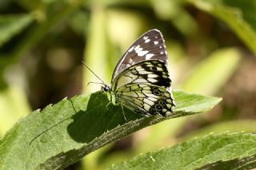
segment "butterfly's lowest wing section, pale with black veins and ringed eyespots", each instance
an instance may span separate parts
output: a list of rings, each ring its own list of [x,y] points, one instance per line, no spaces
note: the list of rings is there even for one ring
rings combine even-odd
[[[118,89],[116,93],[121,105],[146,115],[172,113],[174,101],[171,93],[156,85],[130,84]]]

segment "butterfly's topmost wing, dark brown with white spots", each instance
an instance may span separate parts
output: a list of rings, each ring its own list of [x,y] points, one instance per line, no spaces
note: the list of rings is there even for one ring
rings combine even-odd
[[[112,82],[126,68],[140,61],[157,59],[167,63],[166,45],[159,30],[149,30],[143,34],[118,61],[112,76]]]

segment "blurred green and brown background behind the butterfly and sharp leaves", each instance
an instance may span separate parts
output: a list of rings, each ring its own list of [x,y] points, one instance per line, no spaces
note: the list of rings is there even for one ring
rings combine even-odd
[[[255,0],[0,0],[0,137],[34,109],[100,89],[144,32],[166,40],[173,89],[222,97],[209,113],[144,128],[67,169],[102,169],[210,132],[256,132]]]

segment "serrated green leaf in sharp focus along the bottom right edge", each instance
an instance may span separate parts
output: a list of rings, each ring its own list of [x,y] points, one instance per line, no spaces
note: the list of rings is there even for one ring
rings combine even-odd
[[[171,148],[135,156],[108,169],[248,169],[255,168],[256,135],[210,134]]]

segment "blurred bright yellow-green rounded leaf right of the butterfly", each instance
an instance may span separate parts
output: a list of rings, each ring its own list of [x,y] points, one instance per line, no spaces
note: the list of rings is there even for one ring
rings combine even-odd
[[[238,68],[240,61],[238,49],[218,49],[194,67],[182,89],[206,95],[217,93]]]

